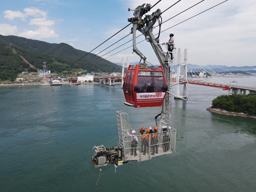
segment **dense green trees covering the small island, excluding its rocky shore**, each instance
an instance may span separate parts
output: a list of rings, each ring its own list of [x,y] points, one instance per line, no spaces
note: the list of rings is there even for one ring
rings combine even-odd
[[[256,115],[256,95],[221,95],[212,100],[212,107],[236,113]]]

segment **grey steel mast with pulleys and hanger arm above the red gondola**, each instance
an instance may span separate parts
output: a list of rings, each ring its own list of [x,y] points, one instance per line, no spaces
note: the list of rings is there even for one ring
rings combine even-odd
[[[163,99],[162,111],[160,115],[159,122],[157,126],[162,127],[163,122],[164,125],[169,124],[171,118],[171,103],[172,103],[172,60],[170,58],[170,54],[168,52],[167,46],[166,52],[163,51],[161,45],[159,44],[159,36],[160,30],[157,38],[154,37],[152,31],[154,28],[154,24],[156,21],[159,23],[159,27],[161,27],[161,10],[157,9],[151,15],[145,15],[151,9],[150,4],[143,4],[141,6],[137,6],[135,10],[128,9],[128,11],[134,11],[134,17],[128,18],[128,22],[133,23],[132,27],[132,35],[133,35],[133,51],[140,56],[141,60],[143,60],[143,66],[146,66],[146,57],[137,49],[136,47],[136,32],[137,30],[143,35],[145,35],[145,39],[151,44],[158,61],[163,69],[163,74],[167,79],[167,86],[163,87],[164,90],[167,91],[166,96]],[[145,15],[144,18],[143,15]],[[123,87],[125,87],[124,85]],[[127,87],[127,86],[126,86]],[[125,94],[127,94],[127,90],[124,90]],[[157,118],[157,117],[156,117]]]

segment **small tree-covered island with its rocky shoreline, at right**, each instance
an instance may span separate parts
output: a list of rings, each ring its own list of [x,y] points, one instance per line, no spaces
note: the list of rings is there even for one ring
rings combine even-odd
[[[256,95],[221,95],[212,100],[212,113],[256,119]]]

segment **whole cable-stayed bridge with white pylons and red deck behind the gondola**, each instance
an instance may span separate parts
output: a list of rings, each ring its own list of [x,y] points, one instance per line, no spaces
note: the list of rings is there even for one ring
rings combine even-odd
[[[215,87],[223,90],[228,90],[230,94],[256,94],[255,87],[238,86],[237,81],[227,81],[221,74],[215,72],[210,67],[201,66],[197,64],[187,64],[187,49],[181,53],[181,49],[174,49],[174,59],[170,62],[172,67],[172,81],[176,86],[177,96],[181,98],[187,98],[188,86],[187,84],[195,84],[207,87]],[[115,85],[115,79],[124,79],[129,65],[122,58],[122,73],[119,76],[101,77],[98,79],[102,84]],[[113,81],[113,83],[112,83]],[[183,87],[182,87],[183,86]],[[180,88],[183,88],[180,93]]]

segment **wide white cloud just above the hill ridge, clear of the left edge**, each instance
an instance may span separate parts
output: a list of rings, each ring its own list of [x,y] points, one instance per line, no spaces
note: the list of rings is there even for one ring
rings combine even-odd
[[[54,30],[49,29],[47,26],[41,26],[39,29],[35,31],[24,29],[24,31],[22,33],[18,33],[18,35],[25,38],[34,38],[34,39],[53,38],[53,37],[59,36],[54,32]]]

